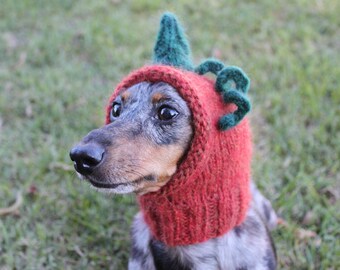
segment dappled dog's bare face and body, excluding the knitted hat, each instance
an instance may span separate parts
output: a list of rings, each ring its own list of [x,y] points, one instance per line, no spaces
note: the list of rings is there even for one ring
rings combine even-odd
[[[145,195],[171,180],[194,132],[192,112],[174,87],[141,82],[112,101],[109,123],[87,134],[71,149],[70,157],[79,177],[97,190]],[[270,230],[277,216],[252,181],[251,195],[242,224],[190,245],[159,241],[139,212],[131,230],[129,269],[275,269]]]

